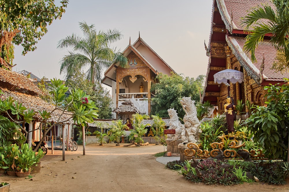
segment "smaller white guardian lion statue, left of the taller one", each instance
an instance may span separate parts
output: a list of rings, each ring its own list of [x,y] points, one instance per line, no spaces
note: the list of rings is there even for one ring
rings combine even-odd
[[[176,133],[175,134],[168,134],[168,139],[179,139],[181,138],[181,127],[183,126],[181,124],[181,121],[179,121],[179,117],[177,114],[177,110],[173,109],[168,109],[168,115],[170,116],[170,127],[169,129],[175,129]]]

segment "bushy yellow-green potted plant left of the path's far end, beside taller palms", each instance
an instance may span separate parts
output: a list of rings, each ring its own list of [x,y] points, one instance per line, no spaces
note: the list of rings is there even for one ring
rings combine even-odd
[[[122,120],[112,121],[112,123],[108,132],[110,134],[110,141],[115,141],[116,146],[119,146],[121,136],[125,135],[124,129],[127,129],[127,125],[123,125]]]

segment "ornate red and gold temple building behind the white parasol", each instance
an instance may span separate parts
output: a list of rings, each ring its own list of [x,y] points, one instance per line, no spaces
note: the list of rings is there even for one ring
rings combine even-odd
[[[214,0],[211,20],[211,33],[208,47],[205,45],[209,57],[207,77],[205,81],[202,101],[209,100],[218,106],[218,113],[224,113],[228,88],[230,96],[237,100],[262,106],[264,105],[265,85],[281,83],[288,73],[276,73],[271,69],[276,58],[277,50],[270,42],[270,36],[264,37],[255,56],[257,62],[252,63],[251,54],[243,52],[247,34],[244,33],[242,18],[252,7],[268,3],[275,7],[270,0]],[[218,84],[214,81],[214,74],[225,69],[234,69],[244,73],[244,82]],[[247,110],[247,109],[246,109]],[[244,110],[245,112],[245,110]]]

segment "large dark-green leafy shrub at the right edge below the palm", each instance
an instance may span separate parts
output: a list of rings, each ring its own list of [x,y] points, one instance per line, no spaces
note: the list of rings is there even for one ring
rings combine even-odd
[[[269,158],[287,159],[289,87],[284,85],[265,86],[268,91],[267,107],[254,107],[254,113],[247,119],[248,127],[254,133],[255,142],[264,143]]]

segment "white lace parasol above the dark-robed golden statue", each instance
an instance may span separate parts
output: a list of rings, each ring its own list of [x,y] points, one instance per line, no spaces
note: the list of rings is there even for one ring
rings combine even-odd
[[[227,80],[229,80],[230,83],[242,83],[242,81],[244,81],[244,73],[233,69],[225,69],[214,75],[215,83],[226,84]]]

